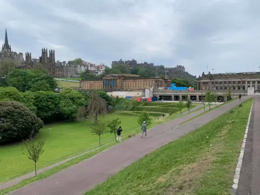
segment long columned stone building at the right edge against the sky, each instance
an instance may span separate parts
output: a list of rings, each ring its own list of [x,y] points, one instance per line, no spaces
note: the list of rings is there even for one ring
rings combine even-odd
[[[197,78],[198,90],[236,90],[247,91],[248,87],[260,89],[260,72],[205,74]]]

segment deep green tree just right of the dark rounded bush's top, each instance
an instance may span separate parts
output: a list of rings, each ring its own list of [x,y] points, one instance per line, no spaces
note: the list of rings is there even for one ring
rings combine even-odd
[[[59,111],[59,94],[52,91],[36,91],[32,93],[36,115],[41,119],[53,116]]]

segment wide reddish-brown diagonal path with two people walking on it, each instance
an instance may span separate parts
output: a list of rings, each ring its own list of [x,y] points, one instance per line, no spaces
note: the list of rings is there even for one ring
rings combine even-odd
[[[130,139],[126,139],[105,151],[43,180],[19,188],[10,194],[82,194],[144,155],[208,123],[248,98],[248,96],[244,96],[241,100],[236,99],[188,122],[185,121],[196,116],[199,112],[203,112],[203,109],[157,125],[147,131],[148,137],[141,138],[139,135],[136,135]],[[179,125],[182,122],[185,123]]]

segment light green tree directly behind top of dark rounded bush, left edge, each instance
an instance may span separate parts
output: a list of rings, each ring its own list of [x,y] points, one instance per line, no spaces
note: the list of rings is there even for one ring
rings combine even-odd
[[[15,87],[0,87],[0,101],[18,101],[34,113],[33,96],[29,92],[20,92]]]

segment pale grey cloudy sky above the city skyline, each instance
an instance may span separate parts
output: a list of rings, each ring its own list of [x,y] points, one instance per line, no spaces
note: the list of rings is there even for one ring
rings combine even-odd
[[[259,71],[259,23],[260,0],[0,0],[0,42],[6,27],[16,52],[182,64],[197,76]]]

